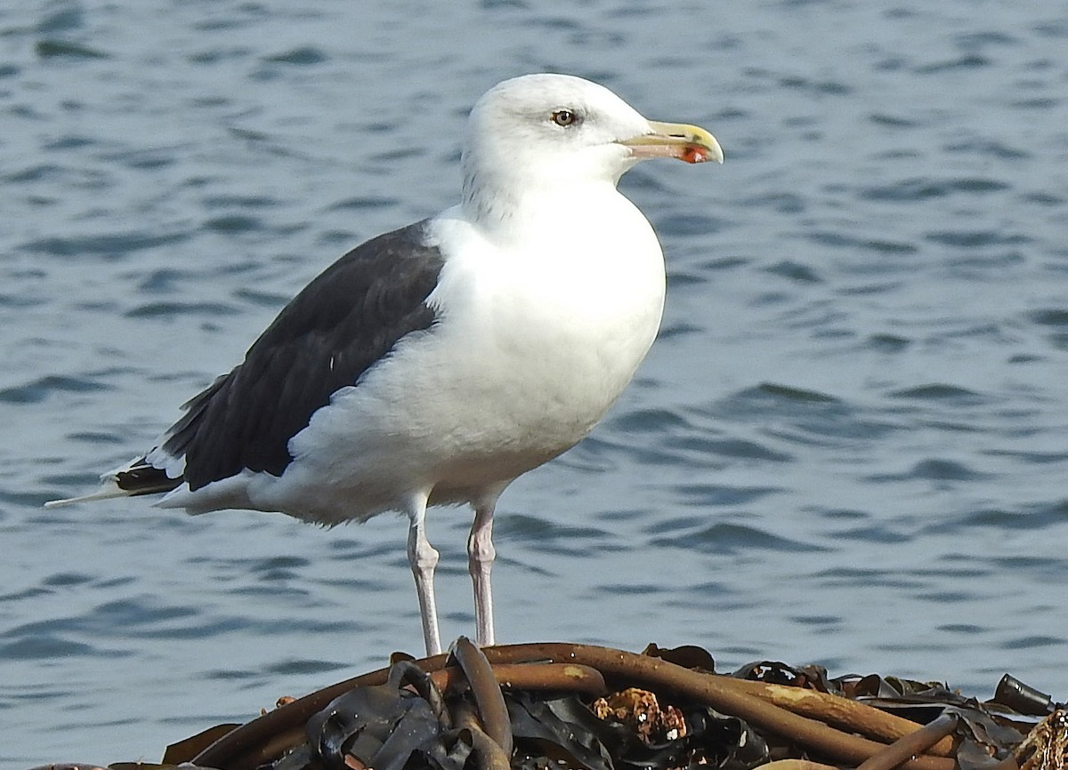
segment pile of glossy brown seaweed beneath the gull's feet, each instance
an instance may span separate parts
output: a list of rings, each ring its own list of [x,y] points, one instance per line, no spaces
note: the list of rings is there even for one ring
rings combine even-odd
[[[939,683],[831,678],[815,665],[718,674],[694,646],[480,649],[460,638],[447,655],[395,655],[388,669],[213,727],[171,745],[161,765],[109,767],[1059,770],[1068,709],[1008,675],[980,703]]]

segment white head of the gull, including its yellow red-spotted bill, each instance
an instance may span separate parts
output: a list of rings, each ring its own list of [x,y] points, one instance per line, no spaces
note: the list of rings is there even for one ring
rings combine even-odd
[[[654,123],[608,89],[570,75],[524,75],[475,102],[464,146],[464,207],[506,216],[523,191],[615,186],[644,158],[723,160],[710,133]]]

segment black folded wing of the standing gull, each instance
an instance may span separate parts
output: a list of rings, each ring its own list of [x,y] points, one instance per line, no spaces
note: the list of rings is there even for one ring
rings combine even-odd
[[[119,474],[121,488],[147,494],[183,481],[198,490],[244,468],[281,476],[289,439],[330,397],[355,385],[405,335],[435,320],[426,298],[441,252],[426,222],[357,246],[309,284],[249,349],[245,362],[190,400],[163,449],[185,455],[183,479],[146,463]]]

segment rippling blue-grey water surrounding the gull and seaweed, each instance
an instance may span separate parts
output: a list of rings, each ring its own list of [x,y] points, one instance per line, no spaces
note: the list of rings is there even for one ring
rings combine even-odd
[[[0,764],[158,759],[419,652],[404,522],[44,511],[307,280],[456,196],[505,77],[599,80],[722,167],[625,191],[663,334],[502,500],[502,641],[707,646],[1068,697],[1063,3],[0,7]],[[438,511],[444,632],[469,516]]]

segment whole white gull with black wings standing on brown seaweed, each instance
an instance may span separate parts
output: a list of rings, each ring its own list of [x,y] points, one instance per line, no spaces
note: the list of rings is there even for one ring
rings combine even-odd
[[[660,244],[616,191],[646,158],[723,154],[708,131],[647,121],[581,78],[498,84],[471,111],[458,206],[327,268],[151,451],[49,504],[166,493],[161,508],[325,525],[404,512],[433,655],[424,516],[468,503],[476,636],[492,644],[498,497],[590,432],[660,325]]]

